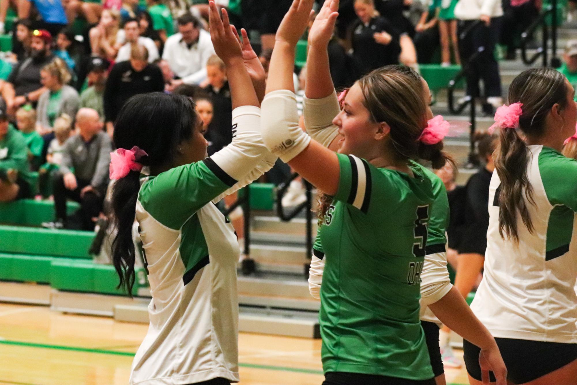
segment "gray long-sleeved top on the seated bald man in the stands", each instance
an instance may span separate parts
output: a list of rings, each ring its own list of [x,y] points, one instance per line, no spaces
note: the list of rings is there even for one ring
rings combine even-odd
[[[88,142],[80,135],[70,137],[62,152],[62,174],[74,169],[76,178],[90,181],[94,188],[105,188],[108,184],[110,152],[112,142],[108,134],[99,132]]]

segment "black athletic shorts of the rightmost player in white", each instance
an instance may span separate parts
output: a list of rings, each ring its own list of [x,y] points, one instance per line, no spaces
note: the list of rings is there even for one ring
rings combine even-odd
[[[524,384],[577,360],[577,343],[541,342],[527,339],[495,338],[507,367],[507,379],[514,384]],[[463,341],[464,361],[467,372],[481,381],[479,353],[481,349]],[[493,372],[489,372],[492,382]]]

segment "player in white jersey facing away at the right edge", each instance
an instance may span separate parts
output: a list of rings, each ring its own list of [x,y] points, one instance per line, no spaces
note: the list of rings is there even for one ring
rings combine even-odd
[[[575,133],[574,95],[556,70],[530,69],[496,114],[485,271],[471,308],[515,385],[577,384],[577,161],[560,153]],[[477,353],[464,342],[471,384],[481,380]]]

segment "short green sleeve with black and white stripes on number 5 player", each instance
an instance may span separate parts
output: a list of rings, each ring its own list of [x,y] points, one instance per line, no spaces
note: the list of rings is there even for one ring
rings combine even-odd
[[[373,188],[369,163],[354,155],[336,155],[339,158],[340,175],[335,199],[367,214]]]

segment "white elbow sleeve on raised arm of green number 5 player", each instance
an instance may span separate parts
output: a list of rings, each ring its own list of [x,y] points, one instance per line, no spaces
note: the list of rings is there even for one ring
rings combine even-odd
[[[298,125],[297,98],[294,92],[279,89],[265,95],[261,106],[264,144],[287,163],[310,143],[310,136]]]

